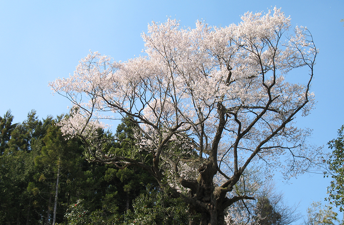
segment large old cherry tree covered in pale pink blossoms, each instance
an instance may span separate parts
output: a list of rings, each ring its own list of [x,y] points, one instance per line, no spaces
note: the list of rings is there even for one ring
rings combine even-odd
[[[264,164],[267,176],[274,169],[295,176],[318,155],[306,142],[310,131],[293,125],[314,105],[318,49],[310,32],[292,29],[277,8],[241,20],[194,28],[153,21],[142,34],[145,56],[116,62],[91,52],[69,78],[50,82],[73,105],[63,133],[80,137],[92,161],[149,171],[201,215],[191,223],[224,224],[227,207],[254,199],[232,192],[245,170]],[[288,82],[299,67],[309,70],[299,70],[302,84]],[[97,137],[100,121],[118,115],[135,124],[131,154],[105,152]]]

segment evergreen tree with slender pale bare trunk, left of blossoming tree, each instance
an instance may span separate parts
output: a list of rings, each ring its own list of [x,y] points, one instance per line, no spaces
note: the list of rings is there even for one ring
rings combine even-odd
[[[39,132],[36,131],[36,135]],[[63,221],[63,214],[66,207],[59,204],[67,193],[67,201],[70,191],[66,186],[71,177],[77,178],[80,171],[79,165],[82,161],[82,150],[80,145],[73,139],[65,139],[55,120],[47,127],[45,135],[42,137],[43,146],[40,155],[35,157],[37,168],[36,180],[43,185],[39,185],[42,199],[45,199],[46,210],[42,217],[45,217],[46,224],[50,220],[53,224]],[[73,178],[72,178],[73,180]],[[73,194],[72,194],[73,195]],[[47,201],[46,201],[47,200]],[[66,202],[68,203],[68,202]]]

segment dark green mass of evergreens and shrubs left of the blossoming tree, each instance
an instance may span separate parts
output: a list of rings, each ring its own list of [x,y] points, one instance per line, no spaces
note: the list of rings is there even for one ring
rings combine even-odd
[[[0,225],[51,224],[59,165],[58,224],[130,224],[145,216],[142,204],[150,205],[156,224],[187,223],[186,206],[168,199],[147,171],[85,161],[82,143],[66,139],[56,125],[62,117],[39,120],[34,110],[20,124],[12,124],[10,111],[0,117]],[[112,139],[104,151],[152,160],[135,150],[134,128],[123,120],[115,135],[99,130],[100,138]]]

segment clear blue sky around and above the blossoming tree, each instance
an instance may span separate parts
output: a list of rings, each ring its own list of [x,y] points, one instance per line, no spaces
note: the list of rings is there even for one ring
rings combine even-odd
[[[67,113],[67,99],[51,94],[48,81],[73,73],[88,51],[125,61],[144,48],[140,34],[152,20],[166,16],[194,26],[239,23],[247,11],[274,6],[291,16],[293,26],[307,26],[320,54],[312,91],[318,103],[311,115],[297,118],[299,127],[313,129],[311,142],[322,146],[336,137],[344,124],[344,1],[0,1],[0,115],[12,110],[22,122],[31,109],[40,119]],[[326,150],[326,149],[325,149]],[[290,204],[300,202],[305,214],[312,201],[326,197],[330,180],[303,175],[279,189]]]

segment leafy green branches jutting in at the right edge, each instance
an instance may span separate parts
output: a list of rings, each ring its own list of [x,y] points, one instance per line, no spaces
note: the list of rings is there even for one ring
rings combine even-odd
[[[329,148],[332,149],[332,154],[328,160],[324,160],[328,165],[333,180],[330,187],[327,188],[329,197],[326,199],[330,204],[334,203],[339,206],[340,211],[344,211],[344,125],[338,130],[338,137],[331,140]],[[328,176],[325,172],[325,176]]]

